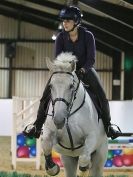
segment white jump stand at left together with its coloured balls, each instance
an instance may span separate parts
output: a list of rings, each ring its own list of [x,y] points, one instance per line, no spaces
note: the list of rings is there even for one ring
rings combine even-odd
[[[17,162],[35,162],[36,169],[41,167],[41,140],[28,139],[22,134],[24,127],[36,119],[38,105],[39,98],[13,97],[13,128],[11,136],[13,169],[16,169]],[[32,152],[32,155],[30,155],[30,152]]]

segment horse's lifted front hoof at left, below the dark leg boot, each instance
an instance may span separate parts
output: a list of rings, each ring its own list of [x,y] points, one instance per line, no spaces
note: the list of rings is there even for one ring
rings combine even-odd
[[[55,164],[52,168],[49,168],[47,165],[45,165],[46,172],[50,176],[55,176],[60,172],[59,165]]]

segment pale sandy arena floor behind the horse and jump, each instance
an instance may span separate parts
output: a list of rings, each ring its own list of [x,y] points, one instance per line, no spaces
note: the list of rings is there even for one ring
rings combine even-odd
[[[0,171],[12,171],[11,167],[11,139],[10,137],[0,136]],[[43,158],[41,160],[41,170],[35,169],[35,163],[25,163],[25,162],[17,162],[17,172],[20,173],[29,173],[33,175],[43,176],[47,175],[44,169],[44,161]],[[127,177],[133,177],[133,169],[123,169],[123,170],[105,170],[104,176],[109,175],[127,175]],[[64,177],[63,169],[57,177]]]

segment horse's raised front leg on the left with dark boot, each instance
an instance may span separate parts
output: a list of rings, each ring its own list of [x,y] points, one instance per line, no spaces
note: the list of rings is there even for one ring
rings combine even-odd
[[[54,141],[54,134],[49,129],[45,128],[42,138],[42,148],[45,157],[45,169],[48,175],[55,176],[59,173],[60,167],[53,162],[52,147]]]

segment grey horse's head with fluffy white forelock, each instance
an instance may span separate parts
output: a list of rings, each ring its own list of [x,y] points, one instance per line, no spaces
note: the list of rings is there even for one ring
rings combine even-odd
[[[50,87],[54,123],[57,129],[61,129],[69,116],[77,88],[77,83],[75,82],[77,77],[74,74],[76,57],[71,53],[61,53],[53,62],[47,60],[47,66],[53,73]]]

